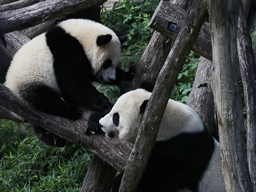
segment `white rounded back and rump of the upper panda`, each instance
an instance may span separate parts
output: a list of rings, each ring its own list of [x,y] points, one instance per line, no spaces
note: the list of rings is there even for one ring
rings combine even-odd
[[[14,55],[6,75],[6,86],[18,94],[20,87],[42,82],[58,87],[53,69],[53,56],[46,44],[45,34],[36,36]]]

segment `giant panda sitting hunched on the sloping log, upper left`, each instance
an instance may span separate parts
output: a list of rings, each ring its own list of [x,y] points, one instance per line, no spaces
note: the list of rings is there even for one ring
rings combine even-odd
[[[106,110],[112,105],[92,82],[118,85],[132,78],[133,66],[128,72],[117,67],[120,44],[126,39],[91,20],[65,20],[20,48],[8,69],[6,86],[25,104],[70,120],[80,118],[79,106]],[[35,132],[46,144],[65,144],[39,126]]]

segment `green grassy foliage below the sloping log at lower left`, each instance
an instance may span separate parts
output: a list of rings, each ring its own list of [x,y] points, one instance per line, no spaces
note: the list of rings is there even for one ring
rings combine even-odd
[[[0,130],[0,191],[80,191],[91,159],[85,149],[70,143],[61,149],[46,146],[12,121],[1,120]]]

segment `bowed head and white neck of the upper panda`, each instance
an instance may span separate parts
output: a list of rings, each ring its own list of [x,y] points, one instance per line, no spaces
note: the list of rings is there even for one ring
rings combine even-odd
[[[58,26],[80,42],[90,61],[93,76],[102,83],[116,79],[120,45],[127,36],[118,37],[110,28],[86,19],[69,19]]]

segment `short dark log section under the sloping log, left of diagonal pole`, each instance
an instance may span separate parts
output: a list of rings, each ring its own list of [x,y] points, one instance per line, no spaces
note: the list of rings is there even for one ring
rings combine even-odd
[[[115,176],[116,170],[94,155],[80,192],[110,192]]]

